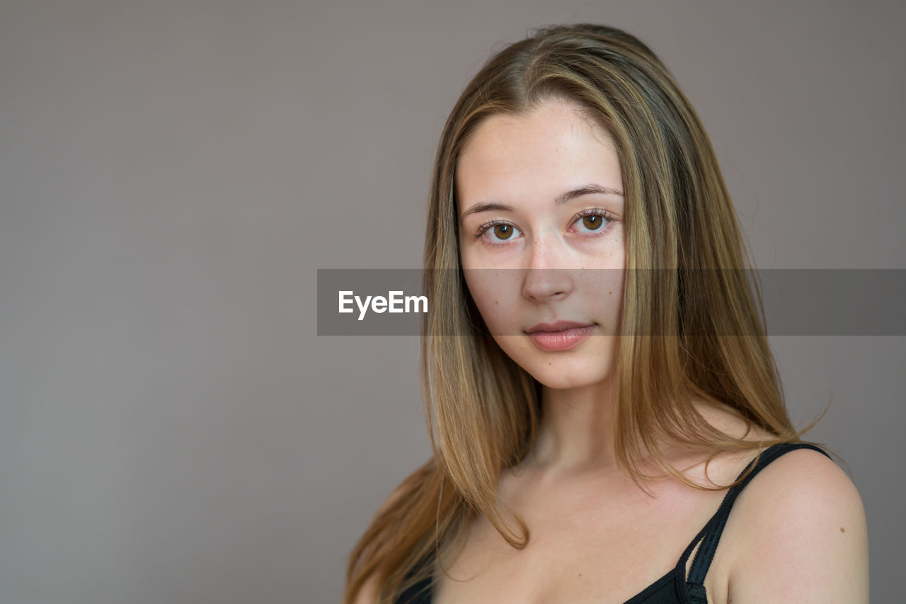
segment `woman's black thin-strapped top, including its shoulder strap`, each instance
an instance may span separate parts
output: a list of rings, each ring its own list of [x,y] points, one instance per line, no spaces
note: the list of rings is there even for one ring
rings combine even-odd
[[[624,604],[708,604],[708,598],[705,595],[705,575],[708,573],[708,567],[714,558],[714,552],[718,548],[720,533],[723,532],[724,526],[733,502],[748,482],[752,480],[768,463],[776,460],[777,457],[794,449],[808,448],[814,449],[818,453],[824,453],[821,449],[813,444],[807,443],[780,443],[768,447],[761,453],[755,470],[746,477],[746,480],[740,482],[735,487],[728,490],[724,496],[723,502],[720,503],[718,511],[715,512],[711,519],[695,536],[695,539],[689,543],[689,546],[682,552],[677,565],[667,571],[663,577],[654,581],[647,588],[642,589],[639,593],[626,600]],[[830,455],[824,453],[828,459]],[[753,460],[754,462],[754,460]],[[750,462],[746,470],[751,466]],[[742,476],[746,470],[739,473]],[[739,478],[737,476],[737,480]],[[689,578],[686,578],[686,561],[689,560],[689,554],[695,549],[699,541],[704,541],[692,560],[692,568],[689,569]],[[407,589],[395,600],[395,604],[430,604],[431,601],[431,584],[430,579],[419,581],[410,589]]]

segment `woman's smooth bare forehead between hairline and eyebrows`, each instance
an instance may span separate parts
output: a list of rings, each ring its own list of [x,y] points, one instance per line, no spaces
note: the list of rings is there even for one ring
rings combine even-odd
[[[460,202],[530,192],[553,199],[586,182],[620,189],[622,171],[609,132],[568,102],[545,102],[482,122],[459,155],[456,180]]]

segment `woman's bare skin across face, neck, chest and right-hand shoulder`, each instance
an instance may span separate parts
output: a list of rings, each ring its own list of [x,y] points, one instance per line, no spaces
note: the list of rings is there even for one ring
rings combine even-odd
[[[459,158],[467,287],[497,344],[543,385],[543,418],[531,453],[498,484],[497,503],[505,517],[517,513],[527,522],[529,545],[515,550],[483,518],[472,521],[463,541],[441,551],[436,603],[621,604],[675,565],[725,494],[664,480],[653,484],[652,499],[614,463],[623,199],[593,193],[554,202],[590,183],[622,191],[620,164],[610,136],[566,102],[488,118]],[[512,209],[463,217],[483,202]],[[587,209],[607,210],[613,221],[601,226],[600,219],[577,216]],[[508,226],[477,236],[490,221]],[[549,352],[524,333],[561,319],[595,323],[594,336],[572,350]],[[726,409],[694,404],[718,429],[745,433]],[[747,439],[764,436],[753,429]],[[669,450],[671,463],[708,486],[731,482],[754,455],[722,453],[706,474],[700,453]],[[867,534],[849,477],[820,453],[786,453],[737,499],[708,571],[708,599],[868,602]]]

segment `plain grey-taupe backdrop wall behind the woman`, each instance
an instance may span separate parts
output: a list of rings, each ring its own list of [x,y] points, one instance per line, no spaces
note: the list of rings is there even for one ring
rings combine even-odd
[[[332,602],[423,463],[418,341],[318,337],[317,268],[419,268],[440,128],[548,23],[660,54],[758,268],[904,268],[903,5],[0,4],[0,600]],[[843,317],[845,320],[845,317]],[[776,337],[894,601],[902,337]]]

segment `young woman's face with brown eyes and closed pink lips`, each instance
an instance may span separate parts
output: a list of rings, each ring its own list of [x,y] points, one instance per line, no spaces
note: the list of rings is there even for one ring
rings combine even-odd
[[[608,379],[625,266],[611,136],[567,102],[493,115],[456,181],[460,261],[498,346],[552,388]],[[563,331],[564,321],[584,327]]]

